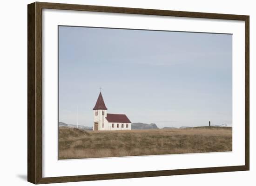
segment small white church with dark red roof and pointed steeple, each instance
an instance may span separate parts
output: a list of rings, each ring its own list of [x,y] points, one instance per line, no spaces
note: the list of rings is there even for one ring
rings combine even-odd
[[[131,130],[131,121],[125,114],[108,114],[107,110],[100,92],[93,108],[93,130]]]

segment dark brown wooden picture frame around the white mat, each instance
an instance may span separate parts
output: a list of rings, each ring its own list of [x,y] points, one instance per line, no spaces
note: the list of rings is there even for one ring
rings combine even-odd
[[[42,9],[245,21],[245,165],[42,178]],[[249,16],[34,2],[27,6],[27,180],[34,184],[249,170]]]

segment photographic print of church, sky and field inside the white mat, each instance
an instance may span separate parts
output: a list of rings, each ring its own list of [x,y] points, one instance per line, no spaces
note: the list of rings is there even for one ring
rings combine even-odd
[[[58,27],[58,159],[232,151],[232,34]]]

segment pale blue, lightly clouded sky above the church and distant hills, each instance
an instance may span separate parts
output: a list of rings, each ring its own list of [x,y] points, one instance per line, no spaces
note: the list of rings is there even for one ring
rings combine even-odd
[[[108,113],[162,127],[232,124],[232,35],[59,26],[59,121]]]

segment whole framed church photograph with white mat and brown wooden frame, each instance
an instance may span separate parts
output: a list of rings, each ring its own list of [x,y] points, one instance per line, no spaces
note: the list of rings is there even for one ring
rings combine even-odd
[[[249,170],[249,16],[27,11],[29,182]]]

